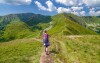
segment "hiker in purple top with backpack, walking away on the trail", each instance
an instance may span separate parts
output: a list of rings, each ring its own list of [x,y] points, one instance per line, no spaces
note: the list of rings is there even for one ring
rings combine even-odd
[[[49,35],[47,34],[46,30],[43,31],[43,45],[45,47],[46,54],[49,54],[48,46],[50,45],[50,43],[49,43]]]

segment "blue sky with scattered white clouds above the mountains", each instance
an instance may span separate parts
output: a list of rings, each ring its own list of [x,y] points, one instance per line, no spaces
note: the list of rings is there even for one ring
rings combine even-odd
[[[100,0],[0,0],[0,15],[36,13],[100,16]]]

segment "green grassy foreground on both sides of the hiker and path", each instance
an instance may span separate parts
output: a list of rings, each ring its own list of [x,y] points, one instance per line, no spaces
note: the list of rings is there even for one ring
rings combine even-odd
[[[50,37],[54,63],[100,63],[99,35]],[[42,43],[33,38],[0,43],[0,63],[39,63]]]

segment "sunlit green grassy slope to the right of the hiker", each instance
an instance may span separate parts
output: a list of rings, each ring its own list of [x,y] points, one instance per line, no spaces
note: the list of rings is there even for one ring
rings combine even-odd
[[[100,36],[58,36],[51,40],[55,63],[100,63]]]

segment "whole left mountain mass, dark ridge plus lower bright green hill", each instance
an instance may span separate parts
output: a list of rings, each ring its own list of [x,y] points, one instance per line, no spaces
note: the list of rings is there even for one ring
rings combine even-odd
[[[0,35],[3,39],[16,39],[35,36],[46,28],[51,21],[50,16],[33,13],[10,14],[0,18]],[[24,30],[25,28],[25,30]],[[26,31],[27,30],[27,31]],[[25,33],[24,33],[25,31]],[[16,32],[16,33],[15,33]]]

